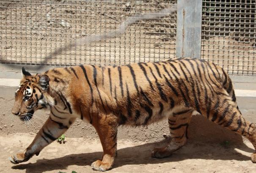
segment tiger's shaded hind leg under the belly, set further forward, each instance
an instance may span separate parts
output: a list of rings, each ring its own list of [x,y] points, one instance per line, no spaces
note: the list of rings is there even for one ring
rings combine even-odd
[[[183,111],[173,113],[173,115],[168,118],[171,141],[165,147],[154,149],[151,153],[152,157],[168,157],[184,146],[187,141],[187,129],[192,112],[192,109],[184,109]]]

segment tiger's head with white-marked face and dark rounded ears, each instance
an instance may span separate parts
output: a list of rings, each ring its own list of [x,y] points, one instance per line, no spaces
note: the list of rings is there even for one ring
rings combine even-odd
[[[31,75],[24,67],[22,74],[11,112],[21,120],[30,120],[36,110],[50,107],[50,95],[47,93],[50,78],[47,75]]]

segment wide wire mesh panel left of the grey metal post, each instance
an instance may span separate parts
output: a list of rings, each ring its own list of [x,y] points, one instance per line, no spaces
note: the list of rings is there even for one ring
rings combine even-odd
[[[175,57],[176,13],[138,21],[124,34],[49,54],[88,35],[118,29],[128,17],[171,8],[176,0],[2,0],[1,64],[129,64]]]

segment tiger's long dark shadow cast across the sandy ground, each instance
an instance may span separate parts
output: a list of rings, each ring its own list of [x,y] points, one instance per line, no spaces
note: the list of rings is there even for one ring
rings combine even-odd
[[[168,139],[165,139],[165,143]],[[163,159],[155,159],[150,156],[151,150],[163,143],[155,142],[118,149],[118,157],[116,158],[113,168],[123,165],[146,165],[158,164],[165,162],[178,162],[187,159],[203,159],[203,160],[238,160],[247,161],[250,157],[245,156],[235,150],[240,149],[244,152],[253,153],[254,150],[245,144],[225,146],[222,144],[197,143],[187,144],[182,149],[176,151],[170,157]],[[209,154],[210,153],[210,154]],[[70,154],[55,159],[39,159],[36,163],[26,163],[15,165],[12,169],[26,170],[26,173],[44,172],[51,170],[67,169],[69,165],[87,166],[92,162],[101,158],[102,152],[91,152],[81,154]]]

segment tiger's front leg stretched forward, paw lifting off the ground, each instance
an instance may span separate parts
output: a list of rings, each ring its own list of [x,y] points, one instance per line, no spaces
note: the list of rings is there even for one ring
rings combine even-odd
[[[36,134],[36,137],[25,149],[24,152],[14,154],[9,157],[9,160],[18,164],[20,162],[28,161],[34,154],[39,155],[39,152],[52,141],[55,141],[59,136],[61,136],[74,122],[75,118],[58,118],[50,115],[47,121],[44,123],[43,127]]]

